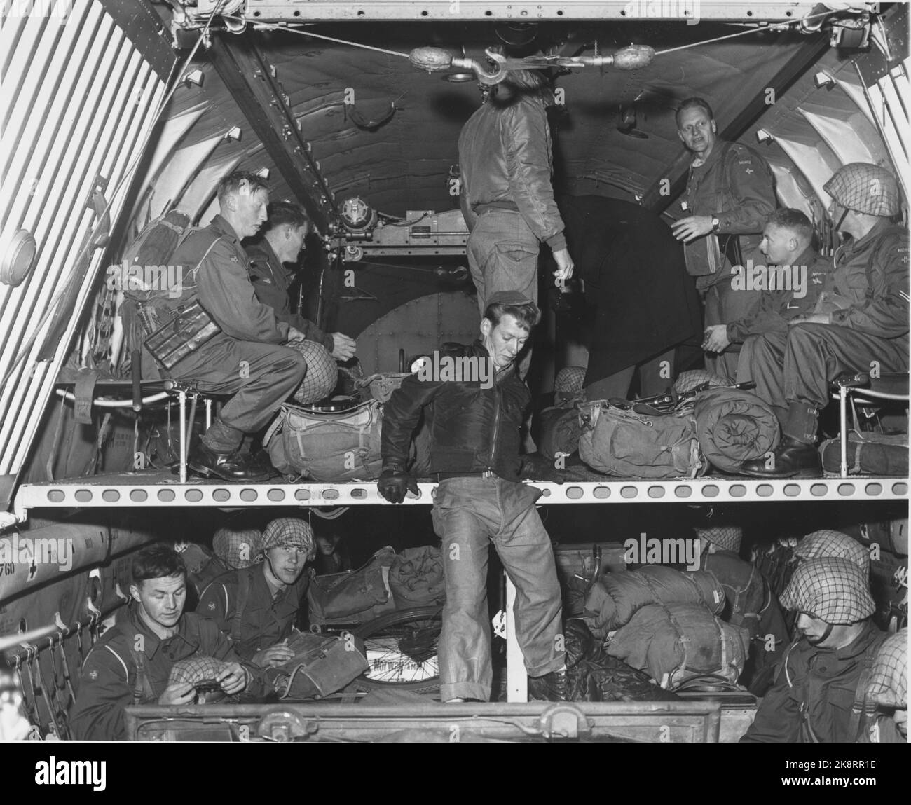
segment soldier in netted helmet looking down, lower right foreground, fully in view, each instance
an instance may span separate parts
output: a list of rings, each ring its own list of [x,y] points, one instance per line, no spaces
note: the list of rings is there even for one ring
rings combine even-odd
[[[854,742],[865,678],[885,639],[870,619],[867,576],[849,559],[808,559],[794,571],[782,606],[799,613],[798,636],[741,741]]]

